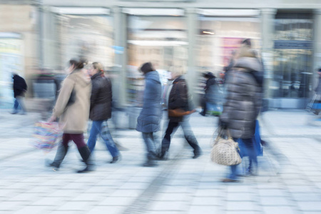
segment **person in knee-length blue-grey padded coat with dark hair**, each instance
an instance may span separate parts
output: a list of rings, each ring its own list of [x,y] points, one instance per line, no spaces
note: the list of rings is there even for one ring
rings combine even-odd
[[[145,91],[143,94],[143,109],[137,118],[136,130],[143,134],[146,144],[147,161],[144,166],[156,165],[156,142],[153,133],[161,126],[161,93],[162,86],[158,75],[151,63],[144,63],[140,70],[145,75]]]

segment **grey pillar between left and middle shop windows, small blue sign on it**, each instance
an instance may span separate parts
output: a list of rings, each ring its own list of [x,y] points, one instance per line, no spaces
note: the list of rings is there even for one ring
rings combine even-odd
[[[114,44],[119,49],[115,52],[115,70],[118,75],[114,83],[116,90],[113,90],[114,97],[117,99],[118,107],[126,106],[126,70],[127,70],[127,16],[121,7],[113,8],[113,20],[115,41]],[[122,49],[123,48],[123,49]],[[115,86],[116,84],[116,86]]]

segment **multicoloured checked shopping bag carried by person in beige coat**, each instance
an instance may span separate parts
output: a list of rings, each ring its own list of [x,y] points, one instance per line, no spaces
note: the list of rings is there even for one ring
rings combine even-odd
[[[45,121],[36,122],[32,146],[49,153],[56,146],[56,141],[62,136],[58,123],[47,123]]]

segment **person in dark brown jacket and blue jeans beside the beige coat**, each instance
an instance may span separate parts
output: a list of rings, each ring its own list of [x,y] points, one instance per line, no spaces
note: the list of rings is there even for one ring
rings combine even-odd
[[[97,135],[100,134],[113,157],[110,163],[116,163],[120,160],[120,153],[111,137],[107,123],[108,119],[111,118],[111,81],[104,75],[101,63],[94,62],[91,66],[90,74],[92,90],[89,118],[93,123],[87,146],[92,153],[96,146]],[[104,126],[103,123],[105,123]]]

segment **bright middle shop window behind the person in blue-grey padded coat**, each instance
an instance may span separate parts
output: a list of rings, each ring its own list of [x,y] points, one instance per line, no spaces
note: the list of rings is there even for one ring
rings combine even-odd
[[[128,103],[141,105],[143,63],[153,63],[163,85],[172,66],[187,66],[187,37],[185,17],[128,16]]]

